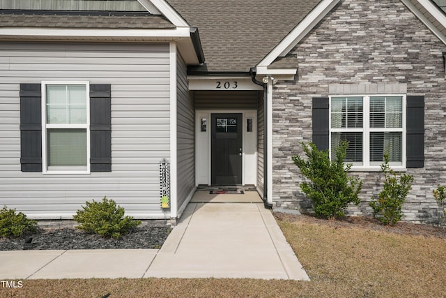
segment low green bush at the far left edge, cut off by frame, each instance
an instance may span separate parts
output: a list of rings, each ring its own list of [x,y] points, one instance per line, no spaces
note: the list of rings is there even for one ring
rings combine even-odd
[[[15,209],[0,211],[0,237],[20,237],[28,232],[36,231],[36,221],[26,218],[22,212],[15,213]]]

